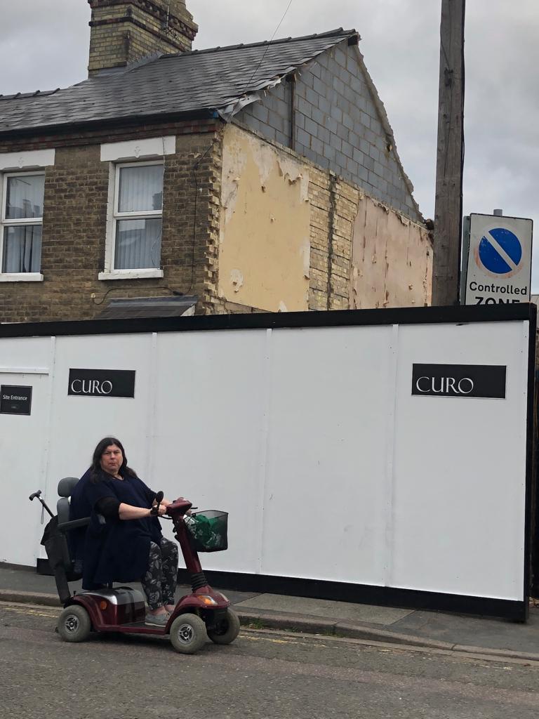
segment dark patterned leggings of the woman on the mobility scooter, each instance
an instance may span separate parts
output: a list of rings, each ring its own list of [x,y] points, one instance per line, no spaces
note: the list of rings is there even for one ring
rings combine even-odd
[[[178,546],[162,537],[160,544],[149,543],[148,569],[140,580],[150,609],[174,604],[178,580]]]

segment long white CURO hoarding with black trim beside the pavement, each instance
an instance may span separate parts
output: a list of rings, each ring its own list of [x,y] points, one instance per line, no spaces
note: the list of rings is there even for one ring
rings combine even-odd
[[[535,307],[156,324],[0,326],[4,498],[41,489],[54,509],[58,480],[117,436],[150,487],[229,511],[208,570],[525,612]],[[1,562],[44,557],[41,519],[4,517]]]

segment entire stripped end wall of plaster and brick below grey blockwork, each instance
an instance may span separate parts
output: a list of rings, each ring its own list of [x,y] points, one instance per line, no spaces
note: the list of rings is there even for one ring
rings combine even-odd
[[[428,231],[358,186],[235,125],[221,184],[218,311],[430,303]]]

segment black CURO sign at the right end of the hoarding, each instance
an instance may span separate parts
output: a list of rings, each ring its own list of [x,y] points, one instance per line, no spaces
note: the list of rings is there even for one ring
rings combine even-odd
[[[501,365],[413,365],[412,394],[505,399],[506,373]]]

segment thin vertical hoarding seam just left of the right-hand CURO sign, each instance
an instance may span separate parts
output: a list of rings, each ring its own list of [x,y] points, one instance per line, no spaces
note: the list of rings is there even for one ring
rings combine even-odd
[[[389,367],[387,373],[387,440],[385,447],[384,477],[384,586],[392,584],[393,574],[393,495],[395,493],[394,456],[395,456],[395,408],[397,404],[397,366],[398,366],[399,325],[392,326]]]

